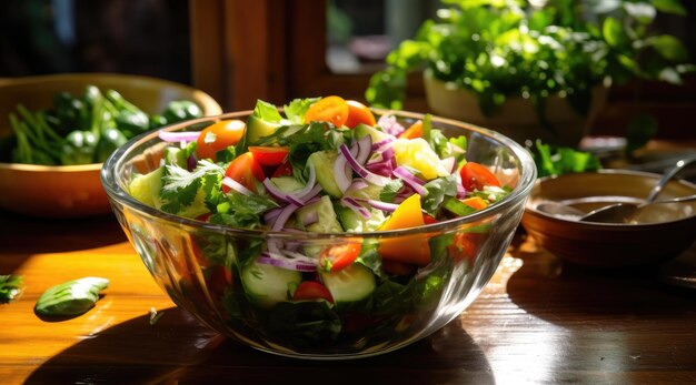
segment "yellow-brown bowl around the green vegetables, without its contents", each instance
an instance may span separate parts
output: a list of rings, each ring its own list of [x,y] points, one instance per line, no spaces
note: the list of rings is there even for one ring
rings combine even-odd
[[[196,102],[207,116],[222,113],[207,93],[155,78],[111,74],[54,74],[0,79],[0,136],[11,129],[8,115],[22,103],[29,110],[48,109],[61,91],[81,94],[88,84],[113,89],[147,113],[161,112],[172,100]],[[41,217],[81,217],[110,212],[99,180],[101,163],[33,165],[0,163],[0,209]]]

